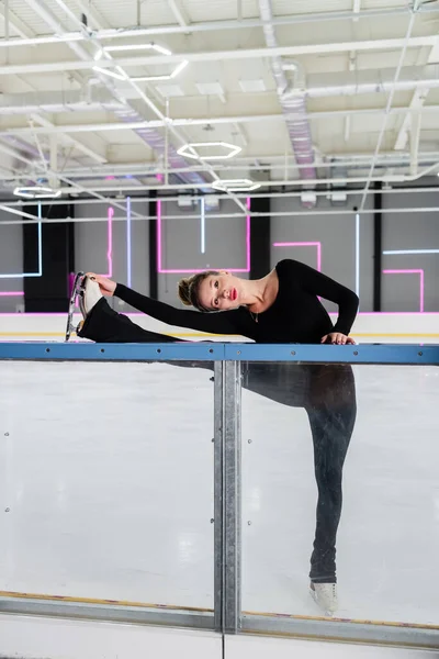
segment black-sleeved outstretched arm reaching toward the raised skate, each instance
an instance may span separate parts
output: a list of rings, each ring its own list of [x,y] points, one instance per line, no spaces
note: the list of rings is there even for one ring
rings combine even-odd
[[[199,332],[212,334],[241,334],[243,317],[239,309],[223,312],[201,313],[185,309],[176,309],[165,302],[153,300],[147,295],[136,293],[122,283],[117,283],[113,293],[134,309],[146,313],[157,321],[178,327],[189,327]]]

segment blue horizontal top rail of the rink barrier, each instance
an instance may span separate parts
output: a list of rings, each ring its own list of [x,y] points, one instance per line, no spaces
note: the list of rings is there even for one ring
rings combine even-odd
[[[305,345],[251,343],[0,343],[0,359],[49,361],[295,361],[439,365],[439,345]]]

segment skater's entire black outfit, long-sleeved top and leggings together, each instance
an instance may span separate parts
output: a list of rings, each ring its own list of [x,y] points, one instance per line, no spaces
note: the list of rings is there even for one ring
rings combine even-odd
[[[357,295],[329,277],[299,261],[277,267],[279,292],[274,303],[258,314],[245,306],[200,313],[175,309],[117,284],[115,297],[150,316],[179,327],[215,334],[239,334],[257,343],[320,343],[330,332],[349,334],[358,309]],[[336,302],[333,323],[318,297]],[[105,343],[169,343],[176,339],[139,327],[113,311],[102,298],[88,314],[79,336]],[[212,369],[212,362],[176,361],[173,366]],[[336,581],[336,536],[341,514],[342,467],[356,420],[356,388],[349,365],[243,362],[243,388],[283,405],[304,407],[314,445],[318,488],[316,532],[309,577],[316,583]],[[148,395],[148,392],[145,392]],[[269,442],[269,437],[267,439]]]

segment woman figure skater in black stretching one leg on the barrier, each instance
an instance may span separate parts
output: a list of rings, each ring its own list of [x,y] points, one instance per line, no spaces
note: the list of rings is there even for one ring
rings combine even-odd
[[[114,295],[169,325],[241,335],[264,344],[353,344],[349,332],[359,303],[351,290],[291,259],[278,263],[258,280],[213,270],[182,279],[180,300],[198,311],[176,309],[89,272],[82,280],[83,322],[78,336],[99,343],[179,340],[143,330],[113,311],[104,295]],[[338,304],[335,326],[319,298]],[[244,362],[243,387],[282,404],[304,407],[308,415],[318,489],[309,589],[320,608],[331,615],[338,607],[336,535],[341,514],[342,467],[357,411],[352,369],[349,365]]]

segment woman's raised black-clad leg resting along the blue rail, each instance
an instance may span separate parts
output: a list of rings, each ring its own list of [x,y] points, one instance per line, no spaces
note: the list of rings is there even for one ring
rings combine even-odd
[[[182,339],[143,330],[127,316],[115,312],[105,298],[88,314],[78,336],[97,343],[180,343]]]

